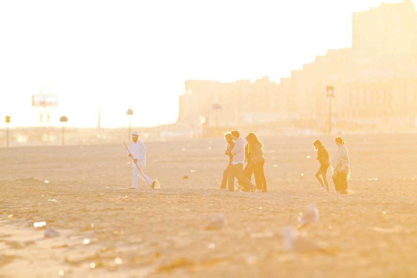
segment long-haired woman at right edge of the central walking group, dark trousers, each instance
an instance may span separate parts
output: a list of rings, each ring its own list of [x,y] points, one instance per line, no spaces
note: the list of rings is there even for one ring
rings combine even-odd
[[[255,133],[250,132],[246,136],[249,144],[249,153],[251,154],[252,164],[249,166],[248,174],[252,175],[253,172],[257,171],[259,178],[262,183],[262,192],[266,192],[266,178],[263,171],[265,165],[265,158],[263,157],[263,144],[259,141],[258,136]]]

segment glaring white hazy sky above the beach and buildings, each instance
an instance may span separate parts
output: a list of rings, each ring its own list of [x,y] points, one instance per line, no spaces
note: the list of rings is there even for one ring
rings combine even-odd
[[[413,0],[416,4],[417,0]],[[401,1],[384,1],[401,2]],[[380,0],[0,1],[0,127],[39,125],[31,95],[58,95],[51,124],[173,123],[186,79],[280,81],[351,46],[352,12]]]

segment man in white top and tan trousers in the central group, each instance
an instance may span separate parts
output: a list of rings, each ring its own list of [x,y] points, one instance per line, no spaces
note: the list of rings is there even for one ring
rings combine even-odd
[[[230,152],[233,155],[232,168],[229,173],[229,191],[235,190],[235,177],[241,182],[241,191],[254,192],[256,186],[243,173],[243,164],[245,163],[245,142],[240,137],[237,130],[232,133],[232,139],[235,140],[235,147]]]

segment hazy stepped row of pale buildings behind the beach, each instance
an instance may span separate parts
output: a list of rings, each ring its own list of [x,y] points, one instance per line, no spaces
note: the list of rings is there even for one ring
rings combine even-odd
[[[198,126],[287,121],[295,132],[327,130],[326,86],[335,88],[333,130],[405,130],[417,124],[417,12],[410,0],[353,13],[352,47],[329,50],[280,84],[185,81],[178,122]],[[223,107],[211,109],[214,103]]]

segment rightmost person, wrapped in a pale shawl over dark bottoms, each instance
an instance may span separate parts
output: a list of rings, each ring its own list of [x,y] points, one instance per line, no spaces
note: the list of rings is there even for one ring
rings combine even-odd
[[[338,150],[332,159],[333,183],[335,184],[336,192],[347,194],[347,179],[350,176],[349,152],[343,138],[337,137],[335,142],[338,145]]]

